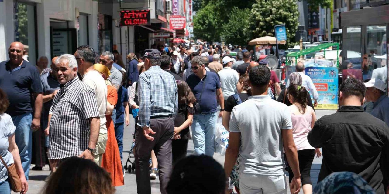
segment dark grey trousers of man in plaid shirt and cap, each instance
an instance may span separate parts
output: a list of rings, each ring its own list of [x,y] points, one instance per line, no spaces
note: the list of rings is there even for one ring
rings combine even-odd
[[[154,149],[158,160],[159,187],[161,194],[166,194],[166,186],[172,171],[172,137],[174,132],[173,118],[151,119],[150,128],[155,134],[154,141],[147,140],[141,127],[137,127],[135,136],[135,175],[138,194],[151,194],[149,159]]]

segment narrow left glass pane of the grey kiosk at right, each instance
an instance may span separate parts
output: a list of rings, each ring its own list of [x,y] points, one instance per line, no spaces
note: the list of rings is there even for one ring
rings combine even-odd
[[[361,27],[349,26],[343,32],[343,45],[339,62],[342,62],[342,80],[357,78],[362,80],[361,71]]]

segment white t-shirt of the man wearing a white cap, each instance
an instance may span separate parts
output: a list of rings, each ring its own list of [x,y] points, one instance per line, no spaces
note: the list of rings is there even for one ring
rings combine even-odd
[[[235,88],[237,88],[239,80],[238,72],[230,67],[225,67],[217,74],[220,76],[221,90],[223,91],[224,100],[227,100],[228,97],[235,94]]]

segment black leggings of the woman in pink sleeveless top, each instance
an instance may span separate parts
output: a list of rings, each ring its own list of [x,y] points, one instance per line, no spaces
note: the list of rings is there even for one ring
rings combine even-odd
[[[302,185],[305,184],[312,185],[311,167],[312,167],[312,161],[314,161],[315,158],[315,150],[314,149],[299,150],[297,151],[297,155],[298,155],[298,164],[300,166],[301,183]],[[286,154],[284,154],[284,156],[286,161]],[[289,183],[292,183],[292,178],[294,177],[294,174],[289,164],[287,170],[289,173]]]

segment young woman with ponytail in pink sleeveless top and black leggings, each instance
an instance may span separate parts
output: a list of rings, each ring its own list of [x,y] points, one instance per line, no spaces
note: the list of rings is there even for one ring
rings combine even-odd
[[[308,91],[305,87],[293,84],[287,88],[287,97],[292,103],[289,106],[293,124],[293,139],[296,144],[298,161],[300,165],[301,183],[304,194],[312,194],[312,182],[310,171],[315,153],[321,156],[320,149],[315,149],[308,143],[308,132],[312,130],[316,121],[316,114],[312,107],[307,106]],[[286,157],[285,157],[286,158]],[[293,178],[293,172],[288,168],[289,184]],[[292,187],[290,187],[292,190]],[[292,193],[294,191],[291,191]]]

